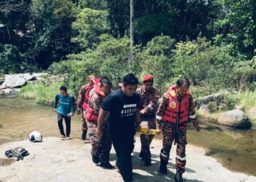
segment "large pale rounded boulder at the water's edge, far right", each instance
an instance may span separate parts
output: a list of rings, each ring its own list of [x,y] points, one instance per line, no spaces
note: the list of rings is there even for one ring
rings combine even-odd
[[[252,125],[246,114],[238,109],[222,114],[222,116],[218,118],[218,123],[238,128],[249,128]]]

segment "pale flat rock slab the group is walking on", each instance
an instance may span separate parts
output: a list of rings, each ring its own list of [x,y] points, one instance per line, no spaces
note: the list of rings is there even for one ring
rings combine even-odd
[[[18,162],[7,162],[4,151],[22,146],[30,153]],[[159,151],[162,142],[154,140],[151,144],[152,165],[144,167],[138,154],[140,142],[137,138],[133,162],[135,181],[173,181],[175,173],[175,147],[170,154],[168,174],[158,172]],[[91,162],[91,145],[77,138],[61,141],[59,138],[43,138],[42,143],[18,141],[0,146],[0,181],[122,181],[121,175],[114,170],[105,170]],[[207,157],[203,149],[187,146],[187,167],[185,181],[256,181],[255,176],[233,173],[212,157]],[[110,163],[116,160],[115,152],[110,154]],[[2,161],[2,162],[1,162]],[[3,162],[4,161],[4,162]]]

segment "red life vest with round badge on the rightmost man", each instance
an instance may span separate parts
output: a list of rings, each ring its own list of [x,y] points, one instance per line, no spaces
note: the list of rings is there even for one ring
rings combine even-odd
[[[189,120],[189,96],[191,93],[188,91],[181,100],[178,100],[175,88],[175,85],[171,86],[166,93],[169,100],[162,120],[174,123],[176,123],[177,120],[178,122],[187,122]]]

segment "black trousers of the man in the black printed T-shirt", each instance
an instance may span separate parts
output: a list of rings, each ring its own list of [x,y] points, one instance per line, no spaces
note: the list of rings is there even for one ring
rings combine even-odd
[[[132,181],[132,151],[134,149],[134,134],[110,127],[113,147],[116,151],[116,165],[124,181]]]

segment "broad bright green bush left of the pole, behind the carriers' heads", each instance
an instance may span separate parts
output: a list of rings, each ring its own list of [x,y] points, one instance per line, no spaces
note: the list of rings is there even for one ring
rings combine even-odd
[[[103,41],[105,40],[105,41]],[[136,50],[135,50],[136,51]],[[129,39],[115,39],[102,36],[102,41],[95,50],[87,50],[78,55],[69,55],[69,60],[54,63],[53,73],[64,78],[64,84],[72,89],[75,94],[83,84],[86,84],[86,77],[108,76],[117,86],[125,74],[130,72],[140,73],[138,56],[135,56],[135,63],[128,64]]]

